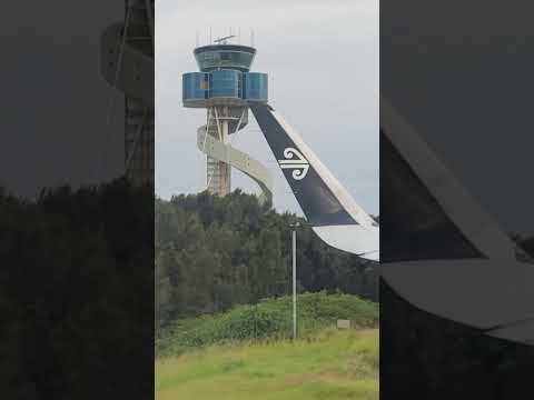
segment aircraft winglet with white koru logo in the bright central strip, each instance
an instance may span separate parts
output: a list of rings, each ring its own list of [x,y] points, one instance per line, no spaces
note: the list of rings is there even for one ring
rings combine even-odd
[[[314,231],[335,248],[377,260],[378,223],[278,112],[264,103],[249,107]]]

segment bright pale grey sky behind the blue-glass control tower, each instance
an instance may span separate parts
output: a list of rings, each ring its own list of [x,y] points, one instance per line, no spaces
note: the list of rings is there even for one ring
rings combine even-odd
[[[156,192],[162,198],[205,189],[205,156],[196,130],[206,111],[181,104],[181,74],[197,71],[196,32],[212,37],[241,32],[258,50],[254,71],[269,74],[269,102],[301,134],[368,212],[378,213],[377,0],[157,1]],[[299,211],[270,149],[251,123],[234,146],[269,167],[274,203]],[[233,187],[259,192],[239,171]]]

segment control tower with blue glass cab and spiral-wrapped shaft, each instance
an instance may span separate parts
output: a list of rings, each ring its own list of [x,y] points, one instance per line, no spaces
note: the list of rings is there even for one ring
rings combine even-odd
[[[230,142],[230,136],[248,123],[248,103],[267,102],[267,74],[250,72],[256,49],[230,44],[231,38],[217,39],[194,50],[200,72],[182,76],[184,107],[207,110],[206,124],[197,130],[197,143],[207,157],[208,191],[228,194],[235,167],[259,184],[260,201],[270,201],[271,178],[267,169]]]

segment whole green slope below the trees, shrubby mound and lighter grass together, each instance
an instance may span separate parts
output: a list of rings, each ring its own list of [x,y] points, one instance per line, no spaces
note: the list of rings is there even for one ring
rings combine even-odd
[[[156,399],[378,398],[378,308],[350,294],[267,299],[179,320],[157,341]],[[354,329],[339,331],[337,319]]]

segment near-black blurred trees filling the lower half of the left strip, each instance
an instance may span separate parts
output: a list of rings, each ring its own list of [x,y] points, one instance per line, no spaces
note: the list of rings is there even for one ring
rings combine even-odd
[[[0,189],[2,398],[152,391],[152,204],[122,179],[37,201]]]

